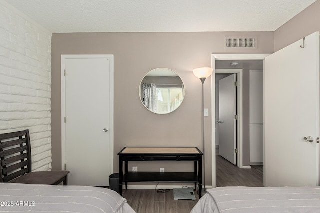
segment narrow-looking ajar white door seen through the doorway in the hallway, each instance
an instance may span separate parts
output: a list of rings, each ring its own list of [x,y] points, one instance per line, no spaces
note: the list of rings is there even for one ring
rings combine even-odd
[[[219,155],[236,164],[236,74],[219,80]]]

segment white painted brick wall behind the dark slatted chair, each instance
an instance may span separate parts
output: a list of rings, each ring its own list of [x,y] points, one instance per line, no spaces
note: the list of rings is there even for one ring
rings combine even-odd
[[[29,129],[33,171],[51,169],[51,36],[0,0],[0,133]]]

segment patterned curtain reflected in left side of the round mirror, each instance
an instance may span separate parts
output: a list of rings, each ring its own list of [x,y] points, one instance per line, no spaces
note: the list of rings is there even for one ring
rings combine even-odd
[[[141,85],[141,99],[146,108],[156,112],[156,86],[154,83],[143,83]]]

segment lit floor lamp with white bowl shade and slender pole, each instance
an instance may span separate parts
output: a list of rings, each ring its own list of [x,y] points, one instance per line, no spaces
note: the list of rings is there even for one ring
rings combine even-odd
[[[204,188],[202,188],[202,194],[206,193],[205,188],[205,143],[204,143],[204,81],[207,77],[209,77],[213,72],[211,67],[201,67],[197,69],[193,69],[193,74],[198,77],[202,82],[202,151],[203,151],[203,184]]]

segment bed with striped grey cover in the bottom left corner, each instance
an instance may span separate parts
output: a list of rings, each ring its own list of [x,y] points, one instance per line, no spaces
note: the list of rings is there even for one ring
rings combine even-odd
[[[135,213],[113,190],[90,186],[0,183],[0,212]]]

